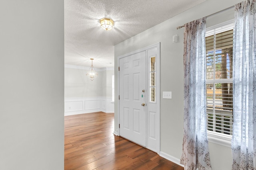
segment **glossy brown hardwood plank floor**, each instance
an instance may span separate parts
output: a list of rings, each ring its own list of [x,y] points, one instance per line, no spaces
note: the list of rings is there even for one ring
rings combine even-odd
[[[114,113],[65,116],[65,170],[184,170],[155,152],[113,135]]]

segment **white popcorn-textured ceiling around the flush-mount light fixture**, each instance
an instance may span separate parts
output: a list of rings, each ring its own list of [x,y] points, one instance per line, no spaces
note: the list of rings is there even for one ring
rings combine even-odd
[[[65,0],[65,64],[114,67],[114,45],[205,0]],[[110,18],[110,31],[100,19]]]

